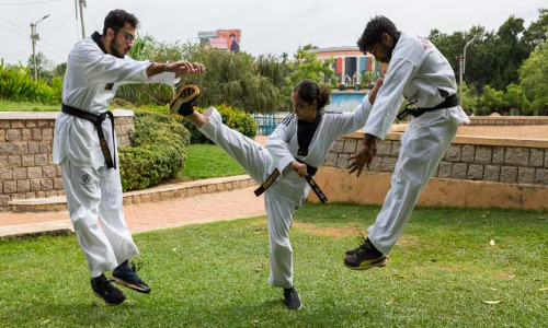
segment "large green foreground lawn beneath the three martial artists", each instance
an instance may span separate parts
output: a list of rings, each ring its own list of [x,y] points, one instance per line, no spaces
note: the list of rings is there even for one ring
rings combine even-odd
[[[135,235],[152,293],[125,290],[116,307],[92,295],[73,235],[1,241],[0,326],[546,327],[546,213],[419,209],[387,267],[344,268],[343,250],[378,211],[331,203],[297,212],[300,311],[285,309],[267,284],[264,218]]]

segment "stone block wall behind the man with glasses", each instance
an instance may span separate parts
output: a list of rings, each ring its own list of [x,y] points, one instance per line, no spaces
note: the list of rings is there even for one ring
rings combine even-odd
[[[12,199],[64,195],[60,167],[53,163],[59,113],[0,112],[0,211]],[[129,145],[133,112],[114,110],[119,145]]]

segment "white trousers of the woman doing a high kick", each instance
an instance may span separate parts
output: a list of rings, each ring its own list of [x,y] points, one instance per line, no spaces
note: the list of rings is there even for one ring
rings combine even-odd
[[[214,108],[207,109],[204,115],[209,117],[209,122],[199,128],[199,131],[232,156],[255,183],[264,183],[273,162],[269,151],[222,125],[220,115]],[[276,288],[292,288],[293,249],[289,229],[297,204],[282,197],[275,187],[273,185],[264,194],[271,250],[269,283]]]

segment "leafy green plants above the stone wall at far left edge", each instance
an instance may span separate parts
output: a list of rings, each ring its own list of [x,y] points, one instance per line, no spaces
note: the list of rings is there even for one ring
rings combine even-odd
[[[0,62],[0,98],[13,102],[35,102],[47,105],[61,103],[62,78],[54,78],[52,85],[46,80],[33,80],[23,66],[4,67]]]

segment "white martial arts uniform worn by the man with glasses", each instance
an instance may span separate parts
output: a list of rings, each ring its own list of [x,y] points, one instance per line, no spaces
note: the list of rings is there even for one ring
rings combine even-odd
[[[119,84],[173,85],[174,73],[149,79],[146,70],[152,62],[107,55],[100,38],[95,32],[70,51],[62,85],[64,104],[99,115],[106,112]],[[117,159],[111,121],[106,119],[102,127],[111,156]],[[119,171],[106,168],[93,122],[59,114],[55,121],[54,162],[61,166],[70,220],[91,276],[99,277],[137,255],[124,220]]]

